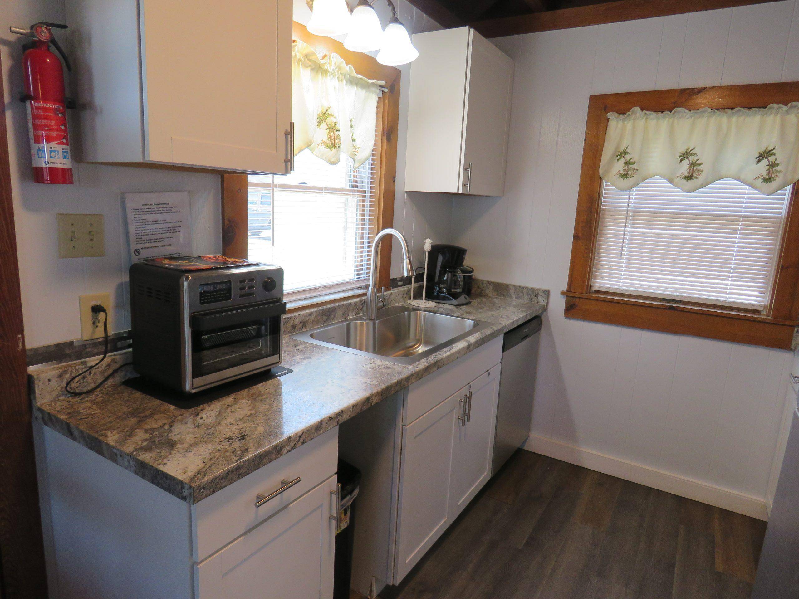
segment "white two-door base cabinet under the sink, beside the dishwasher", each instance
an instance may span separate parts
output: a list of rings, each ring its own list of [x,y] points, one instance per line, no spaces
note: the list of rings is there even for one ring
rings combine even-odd
[[[501,341],[501,339],[500,339]],[[475,355],[465,369],[481,372],[463,381],[469,356],[452,363],[406,393],[434,405],[403,426],[400,459],[400,498],[396,513],[396,552],[393,583],[399,584],[430,549],[463,508],[491,478],[494,450],[501,343],[498,351]],[[494,365],[483,371],[486,360]],[[436,393],[463,384],[443,401],[430,401]],[[437,403],[437,405],[436,405]],[[409,412],[407,409],[404,411]]]

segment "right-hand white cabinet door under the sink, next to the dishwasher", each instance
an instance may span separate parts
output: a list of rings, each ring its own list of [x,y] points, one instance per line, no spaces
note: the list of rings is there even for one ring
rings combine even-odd
[[[500,364],[461,391],[467,399],[467,419],[455,426],[450,480],[450,518],[457,518],[491,478]]]

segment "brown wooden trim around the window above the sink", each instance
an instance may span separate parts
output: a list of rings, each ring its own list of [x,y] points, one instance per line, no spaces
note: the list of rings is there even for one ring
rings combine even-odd
[[[294,39],[307,43],[319,54],[338,54],[356,72],[368,79],[385,81],[388,92],[383,94],[384,102],[380,123],[379,177],[376,197],[376,229],[392,227],[394,224],[394,193],[396,189],[397,168],[397,130],[400,124],[400,69],[381,65],[375,58],[360,52],[351,52],[344,44],[332,38],[308,33],[305,26],[294,22]],[[247,175],[222,175],[222,252],[234,258],[247,257]],[[377,264],[377,282],[380,287],[389,287],[392,266],[392,236],[380,241]],[[358,296],[362,292],[353,292]],[[333,301],[351,300],[352,297]],[[332,301],[320,300],[318,303],[304,304],[302,309],[324,306]]]

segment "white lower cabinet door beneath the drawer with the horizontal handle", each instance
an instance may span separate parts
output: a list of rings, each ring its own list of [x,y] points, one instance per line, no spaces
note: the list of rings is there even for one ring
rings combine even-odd
[[[332,599],[336,476],[197,565],[198,599]]]

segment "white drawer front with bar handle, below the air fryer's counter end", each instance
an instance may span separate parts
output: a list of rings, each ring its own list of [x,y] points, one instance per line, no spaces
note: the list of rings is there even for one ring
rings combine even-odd
[[[336,427],[198,502],[193,510],[195,561],[205,559],[335,474],[338,446]],[[296,478],[300,482],[256,507],[257,494],[268,495],[283,486],[281,481]]]

